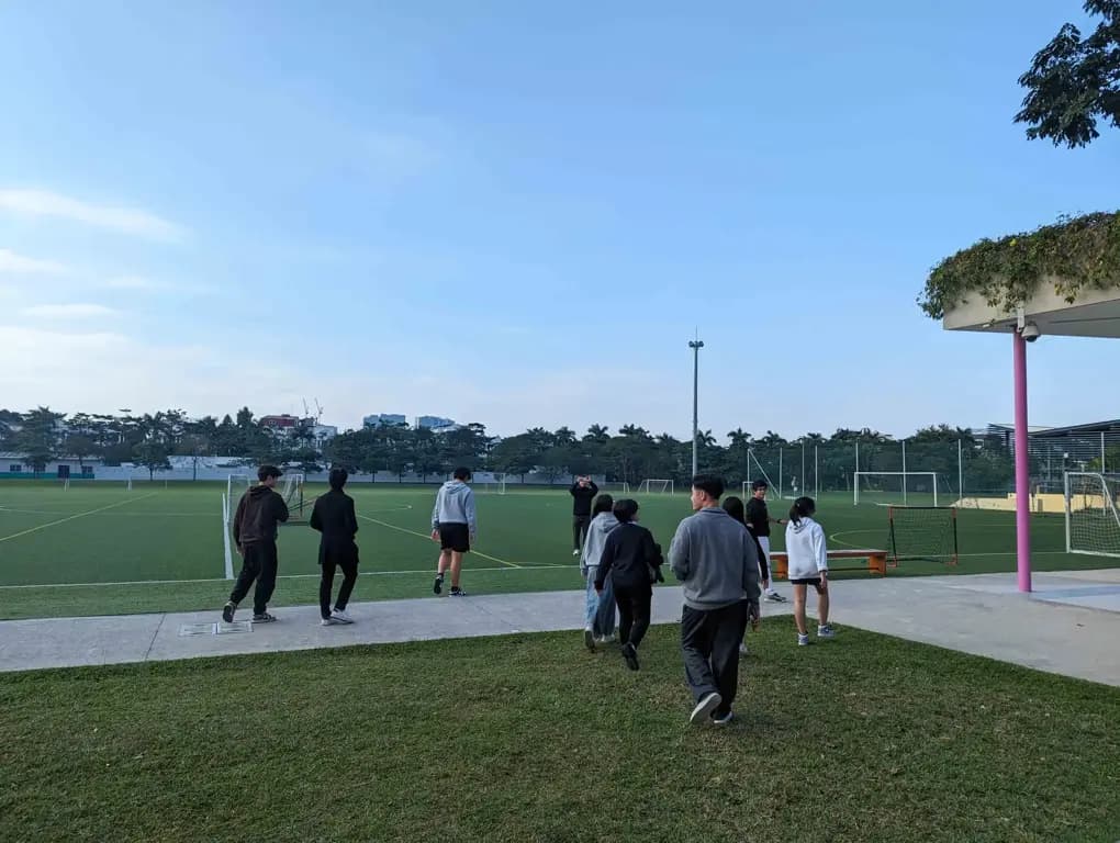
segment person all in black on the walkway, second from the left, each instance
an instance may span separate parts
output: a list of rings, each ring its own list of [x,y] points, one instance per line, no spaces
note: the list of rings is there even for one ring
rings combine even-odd
[[[346,485],[346,469],[330,469],[330,491],[315,502],[311,511],[311,530],[317,530],[319,538],[319,565],[323,575],[319,580],[319,613],[323,626],[334,624],[353,624],[354,619],[346,613],[354,583],[357,581],[357,516],[354,514],[354,498],[343,491]],[[338,589],[338,599],[334,611],[330,610],[330,591],[335,581],[335,568],[343,569],[343,584]]]

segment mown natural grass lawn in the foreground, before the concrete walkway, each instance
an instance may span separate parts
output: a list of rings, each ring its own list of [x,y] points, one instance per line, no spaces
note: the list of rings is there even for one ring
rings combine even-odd
[[[1113,841],[1120,692],[841,630],[753,635],[689,727],[573,634],[0,676],[0,840]]]

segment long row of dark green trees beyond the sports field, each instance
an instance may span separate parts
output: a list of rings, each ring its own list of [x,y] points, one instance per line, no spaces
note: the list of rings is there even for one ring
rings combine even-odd
[[[906,438],[908,469],[937,471],[955,486],[958,442],[969,486],[999,488],[1010,481],[1012,465],[1001,437],[977,435],[948,424],[922,428]],[[786,488],[799,483],[805,489],[851,488],[857,447],[860,470],[903,468],[900,441],[869,428],[840,428],[831,435],[805,433],[795,438],[772,430],[754,435],[737,428],[728,431],[727,444],[704,430],[697,443],[701,468],[731,484],[764,474]],[[594,474],[632,485],[647,478],[684,483],[692,462],[690,440],[654,434],[637,424],[624,424],[615,432],[592,424],[581,434],[568,427],[532,428],[505,438],[491,435],[480,423],[440,433],[386,424],[346,431],[320,443],[310,425],[277,433],[262,425],[249,408],[222,419],[207,415],[196,420],[181,410],[140,415],[66,415],[49,408],[24,413],[0,410],[0,449],[19,453],[36,472],[54,459],[66,458],[80,465],[93,459],[109,466],[131,462],[155,475],[170,467],[171,456],[185,456],[193,457],[196,465],[206,457],[234,458],[246,466],[272,462],[305,472],[340,465],[363,474],[419,475],[422,480],[441,478],[463,465],[521,479],[534,474],[560,483],[572,475]]]

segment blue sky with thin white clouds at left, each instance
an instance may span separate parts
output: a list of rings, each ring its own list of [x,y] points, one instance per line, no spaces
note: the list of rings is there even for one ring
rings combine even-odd
[[[720,435],[1010,419],[915,297],[1116,208],[1120,134],[1011,122],[1081,3],[608,6],[0,7],[0,404],[687,438],[699,327]],[[1032,423],[1118,364],[1043,338]]]

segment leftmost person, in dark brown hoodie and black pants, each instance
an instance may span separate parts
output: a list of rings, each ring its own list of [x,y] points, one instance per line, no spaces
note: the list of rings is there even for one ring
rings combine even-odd
[[[237,504],[237,513],[233,517],[233,541],[242,563],[230,601],[222,609],[222,620],[226,624],[233,622],[237,603],[249,593],[254,580],[253,620],[258,624],[276,620],[268,608],[277,587],[277,532],[280,524],[288,521],[288,505],[274,490],[281,474],[276,466],[261,466],[256,470],[260,484],[242,495]]]

